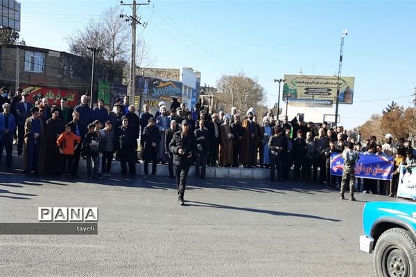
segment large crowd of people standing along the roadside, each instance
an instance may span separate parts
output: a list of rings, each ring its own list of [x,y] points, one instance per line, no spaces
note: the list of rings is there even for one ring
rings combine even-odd
[[[381,145],[375,136],[363,141],[361,134],[348,136],[343,127],[332,128],[325,122],[289,121],[287,116],[275,120],[271,111],[259,122],[253,108],[209,112],[201,100],[193,109],[175,98],[169,108],[161,101],[153,114],[148,104],[138,113],[127,96],[123,102],[117,99],[109,111],[101,99],[94,109],[89,107],[86,95],[72,108],[66,98],[60,99],[60,106],[49,105],[48,98],[28,102],[28,93],[20,88],[15,93],[1,88],[0,94],[0,150],[6,148],[6,167],[12,166],[12,144],[17,143],[17,154],[24,156],[24,171],[35,175],[77,177],[79,161],[84,157],[92,179],[110,176],[112,162],[117,160],[122,175],[135,176],[135,163],[141,161],[144,178],[157,175],[157,164],[167,164],[170,177],[176,175],[179,180],[185,172],[183,168],[177,171],[177,165],[185,157],[189,166],[196,166],[200,179],[205,178],[207,166],[243,166],[270,168],[270,180],[283,182],[291,178],[293,168],[295,181],[326,183],[333,188],[340,180],[330,174],[331,154],[343,152],[351,143],[361,154],[395,157],[395,170],[400,164],[415,165],[411,143],[404,139],[395,145],[388,134]],[[195,145],[186,145],[184,137],[177,137],[188,133]],[[185,144],[178,153],[172,143]],[[386,182],[364,179],[364,191],[388,190],[393,196],[397,171],[394,176],[391,188]]]

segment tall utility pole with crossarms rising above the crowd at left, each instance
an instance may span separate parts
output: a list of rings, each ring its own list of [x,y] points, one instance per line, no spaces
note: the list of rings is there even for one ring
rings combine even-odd
[[[120,1],[121,6],[130,6],[132,7],[132,15],[120,15],[120,18],[125,17],[125,21],[132,22],[132,57],[130,61],[130,89],[128,92],[128,96],[130,98],[130,101],[134,101],[135,96],[135,87],[136,87],[136,26],[137,24],[142,25],[144,28],[146,28],[147,23],[141,23],[140,18],[137,19],[137,6],[142,5],[150,5],[150,0],[148,0],[148,3],[136,3],[136,0],[133,0],[133,3],[123,3],[123,1]],[[141,98],[140,98],[141,103]],[[141,106],[141,104],[140,104]]]

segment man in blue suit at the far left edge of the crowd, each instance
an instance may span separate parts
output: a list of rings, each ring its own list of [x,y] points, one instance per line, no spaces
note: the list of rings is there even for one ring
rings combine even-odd
[[[6,148],[6,168],[12,166],[12,145],[13,135],[16,130],[15,116],[10,114],[10,104],[2,105],[3,112],[0,114],[0,159],[3,155],[3,148]]]

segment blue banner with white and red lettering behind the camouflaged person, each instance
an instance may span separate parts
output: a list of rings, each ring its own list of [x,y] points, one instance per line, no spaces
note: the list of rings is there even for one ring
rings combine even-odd
[[[331,154],[331,175],[343,176],[344,159],[339,153]],[[356,163],[355,174],[359,178],[391,180],[393,158],[361,154]]]

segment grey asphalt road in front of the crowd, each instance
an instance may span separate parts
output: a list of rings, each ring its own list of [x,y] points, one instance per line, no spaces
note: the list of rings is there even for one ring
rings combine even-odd
[[[3,174],[0,222],[39,206],[97,206],[98,235],[0,235],[0,276],[374,276],[362,253],[365,202],[318,184],[171,179],[101,184]]]

